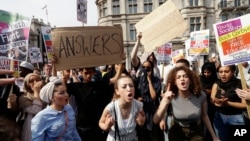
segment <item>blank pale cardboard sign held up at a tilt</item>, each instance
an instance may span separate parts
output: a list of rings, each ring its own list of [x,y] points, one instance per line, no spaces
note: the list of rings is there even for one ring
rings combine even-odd
[[[171,0],[145,16],[135,25],[142,32],[141,43],[146,52],[153,51],[177,36],[182,35],[188,28],[179,10]]]

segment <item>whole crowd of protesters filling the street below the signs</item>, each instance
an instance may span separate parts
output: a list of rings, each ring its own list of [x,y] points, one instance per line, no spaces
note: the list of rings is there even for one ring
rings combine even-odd
[[[245,124],[248,63],[244,80],[212,60],[197,73],[180,59],[162,74],[153,52],[137,56],[141,38],[132,71],[125,62],[57,71],[56,59],[42,71],[20,63],[20,78],[0,70],[0,141],[228,141],[228,127]]]

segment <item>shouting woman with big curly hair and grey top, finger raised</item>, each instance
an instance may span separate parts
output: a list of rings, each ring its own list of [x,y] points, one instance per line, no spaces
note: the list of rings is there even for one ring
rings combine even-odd
[[[154,115],[154,122],[159,123],[166,109],[172,107],[173,125],[169,129],[169,141],[204,140],[201,120],[207,127],[214,141],[217,141],[207,115],[206,95],[202,92],[199,78],[189,68],[173,68],[168,74],[168,86]]]

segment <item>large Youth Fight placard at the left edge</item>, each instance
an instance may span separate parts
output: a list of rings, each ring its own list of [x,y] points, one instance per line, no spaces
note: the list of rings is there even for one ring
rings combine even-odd
[[[31,19],[0,10],[0,58],[26,61]]]

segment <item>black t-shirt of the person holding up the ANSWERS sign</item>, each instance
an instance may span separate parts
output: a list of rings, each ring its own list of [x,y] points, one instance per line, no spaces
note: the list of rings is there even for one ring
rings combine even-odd
[[[76,126],[82,128],[98,127],[103,109],[108,103],[106,96],[107,82],[67,84],[67,91],[75,96],[77,106]]]

